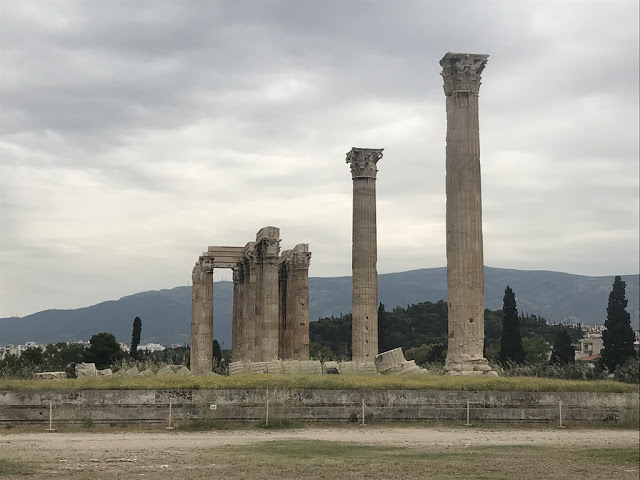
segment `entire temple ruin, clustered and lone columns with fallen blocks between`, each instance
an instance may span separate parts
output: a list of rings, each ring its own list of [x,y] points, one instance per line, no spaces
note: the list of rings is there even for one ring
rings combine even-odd
[[[489,55],[447,53],[446,250],[448,375],[496,375],[483,357],[484,273],[478,93]],[[376,178],[382,148],[352,148],[352,361],[309,360],[309,245],[280,252],[280,230],[244,246],[208,247],[193,267],[191,372],[209,374],[213,271],[233,270],[232,364],[239,373],[414,373],[400,348],[378,352]],[[419,221],[417,219],[417,221]]]

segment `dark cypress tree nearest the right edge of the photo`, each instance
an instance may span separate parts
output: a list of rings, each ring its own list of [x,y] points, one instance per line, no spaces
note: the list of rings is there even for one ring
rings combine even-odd
[[[612,373],[634,355],[633,329],[631,317],[626,310],[625,287],[622,278],[616,276],[609,293],[607,320],[604,322],[606,330],[602,332],[602,362]]]

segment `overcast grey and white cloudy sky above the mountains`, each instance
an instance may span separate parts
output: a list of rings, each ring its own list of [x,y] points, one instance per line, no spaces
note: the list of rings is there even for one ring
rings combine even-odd
[[[445,259],[440,58],[488,53],[485,263],[638,273],[638,1],[0,0],[0,317],[187,285],[267,225],[351,273]],[[216,278],[231,277],[229,270]]]

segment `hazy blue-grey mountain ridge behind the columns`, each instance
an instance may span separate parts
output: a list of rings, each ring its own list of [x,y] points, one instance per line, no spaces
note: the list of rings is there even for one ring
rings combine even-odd
[[[627,310],[638,328],[639,276],[625,275]],[[585,277],[568,273],[485,268],[485,306],[502,308],[506,285],[516,294],[518,310],[535,313],[549,322],[575,321],[602,324],[613,277]],[[387,310],[446,298],[445,268],[428,268],[379,276],[380,301]],[[233,284],[214,285],[214,334],[231,346]],[[310,278],[311,320],[351,311],[351,277]],[[165,345],[189,342],[191,287],[137,293],[75,310],[45,310],[26,317],[0,319],[0,345],[29,340],[52,343],[88,340],[94,333],[112,332],[131,341],[133,319],[142,319],[142,342]]]

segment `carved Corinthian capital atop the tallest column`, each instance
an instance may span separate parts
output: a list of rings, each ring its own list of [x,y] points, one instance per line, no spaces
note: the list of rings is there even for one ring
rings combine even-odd
[[[489,55],[475,53],[447,53],[440,65],[444,80],[444,94],[449,97],[455,92],[475,93],[480,91],[481,74]]]

